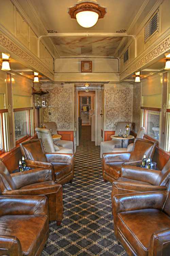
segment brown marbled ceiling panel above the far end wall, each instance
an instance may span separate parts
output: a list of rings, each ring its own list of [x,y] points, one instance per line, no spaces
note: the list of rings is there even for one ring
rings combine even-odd
[[[114,56],[122,37],[55,37],[60,56]]]

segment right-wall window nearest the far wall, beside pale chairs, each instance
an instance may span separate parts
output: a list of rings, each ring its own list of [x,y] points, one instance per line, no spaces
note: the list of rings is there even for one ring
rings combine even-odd
[[[143,123],[146,129],[146,134],[156,141],[159,141],[159,122],[160,122],[160,111],[156,110],[144,110]]]

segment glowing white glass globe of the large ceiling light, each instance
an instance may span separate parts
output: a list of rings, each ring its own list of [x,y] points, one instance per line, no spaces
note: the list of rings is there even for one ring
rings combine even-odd
[[[99,18],[99,14],[91,11],[79,12],[76,14],[77,22],[84,28],[90,28],[94,26]]]

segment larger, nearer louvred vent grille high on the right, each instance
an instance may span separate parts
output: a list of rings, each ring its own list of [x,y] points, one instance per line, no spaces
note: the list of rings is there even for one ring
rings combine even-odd
[[[158,31],[158,10],[153,14],[145,26],[145,43],[156,31]]]

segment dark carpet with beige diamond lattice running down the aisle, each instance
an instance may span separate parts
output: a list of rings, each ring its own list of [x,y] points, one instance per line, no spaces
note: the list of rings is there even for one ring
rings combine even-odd
[[[41,256],[127,256],[114,236],[111,189],[102,179],[100,147],[90,141],[90,126],[82,126],[74,179],[63,186],[64,218],[60,227],[50,223]]]

